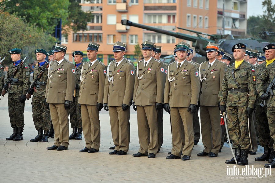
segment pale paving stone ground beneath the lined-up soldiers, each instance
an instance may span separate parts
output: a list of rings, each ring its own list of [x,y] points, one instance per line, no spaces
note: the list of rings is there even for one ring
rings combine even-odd
[[[1,96],[0,101],[0,175],[1,182],[272,182],[274,183],[275,169],[271,169],[271,175],[258,176],[228,175],[228,168],[233,165],[225,164],[225,160],[231,159],[232,154],[227,144],[216,158],[196,156],[202,152],[204,146],[200,139],[194,146],[191,159],[168,160],[168,152],[171,151],[171,128],[169,115],[164,112],[164,143],[156,158],[133,157],[138,152],[138,127],[137,114],[131,108],[130,149],[125,156],[109,155],[109,147],[113,145],[108,112],[101,110],[101,146],[97,153],[81,153],[85,147],[84,137],[81,141],[69,140],[66,151],[46,150],[52,146],[54,140],[48,143],[30,142],[37,135],[31,112],[31,99],[26,101],[24,119],[25,126],[23,141],[6,141],[13,130],[10,127],[7,95]],[[71,134],[71,128],[70,128]],[[259,146],[257,155],[248,155],[248,165],[253,166],[254,172],[262,170],[265,174],[264,164],[256,162],[255,157],[262,155],[263,148]],[[227,167],[228,166],[228,167]],[[235,172],[242,168],[237,166]],[[257,168],[257,169],[256,169]]]

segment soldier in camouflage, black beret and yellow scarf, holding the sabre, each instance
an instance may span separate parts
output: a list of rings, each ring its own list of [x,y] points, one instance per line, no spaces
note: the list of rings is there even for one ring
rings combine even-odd
[[[248,119],[251,120],[256,96],[255,68],[244,61],[245,48],[242,43],[233,46],[232,52],[236,61],[226,69],[219,95],[220,110],[222,113],[227,111],[229,136],[233,141],[238,165],[248,164]],[[234,158],[226,160],[226,163],[236,164]]]

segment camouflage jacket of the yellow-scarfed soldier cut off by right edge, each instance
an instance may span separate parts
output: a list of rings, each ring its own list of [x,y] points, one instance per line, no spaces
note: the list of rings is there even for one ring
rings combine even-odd
[[[262,65],[262,64],[261,64]],[[259,96],[266,93],[266,88],[275,77],[275,62],[269,64],[257,80],[257,91]],[[273,90],[273,93],[275,90]],[[267,107],[275,107],[275,95],[267,99]]]

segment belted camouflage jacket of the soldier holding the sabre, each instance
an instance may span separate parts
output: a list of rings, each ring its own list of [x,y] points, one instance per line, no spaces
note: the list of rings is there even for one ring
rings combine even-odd
[[[233,75],[236,81],[233,79]],[[246,61],[243,61],[237,69],[235,69],[235,63],[229,65],[226,68],[226,74],[221,85],[220,105],[254,108],[256,100],[255,86],[256,74],[254,66]],[[237,89],[241,89],[242,92],[237,92]]]

